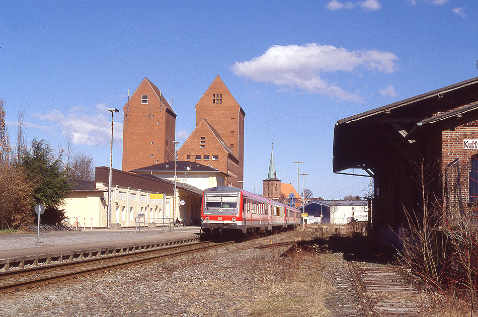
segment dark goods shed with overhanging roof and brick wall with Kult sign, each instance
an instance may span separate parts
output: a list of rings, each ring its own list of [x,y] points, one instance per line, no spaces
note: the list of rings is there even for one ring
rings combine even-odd
[[[333,169],[373,178],[372,230],[387,244],[405,211],[476,216],[478,77],[339,120]]]

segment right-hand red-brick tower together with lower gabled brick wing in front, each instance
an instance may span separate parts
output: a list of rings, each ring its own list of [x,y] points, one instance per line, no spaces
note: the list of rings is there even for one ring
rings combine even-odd
[[[244,175],[244,117],[219,75],[196,104],[196,128],[178,150],[179,160],[227,173],[227,186],[240,187]]]

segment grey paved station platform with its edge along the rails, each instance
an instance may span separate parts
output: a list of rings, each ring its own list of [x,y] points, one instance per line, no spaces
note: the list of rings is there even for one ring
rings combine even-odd
[[[25,265],[50,264],[122,252],[164,248],[199,240],[200,227],[84,229],[0,235],[0,270]]]

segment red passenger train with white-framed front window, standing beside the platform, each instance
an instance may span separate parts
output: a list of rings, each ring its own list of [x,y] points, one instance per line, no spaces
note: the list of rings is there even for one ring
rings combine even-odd
[[[201,229],[212,234],[295,228],[300,220],[296,208],[234,187],[208,188],[202,196]]]

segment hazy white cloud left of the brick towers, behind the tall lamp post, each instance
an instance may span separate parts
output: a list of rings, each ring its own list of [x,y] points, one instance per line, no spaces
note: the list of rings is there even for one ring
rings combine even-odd
[[[101,112],[95,111],[102,110]],[[47,114],[33,113],[32,116],[39,120],[50,121],[56,125],[55,129],[61,130],[61,135],[70,137],[75,145],[107,145],[111,142],[111,118],[100,109],[99,105],[93,109],[74,107],[66,114],[55,109]],[[123,140],[123,124],[114,123],[114,141]]]

